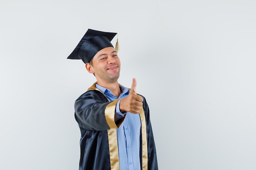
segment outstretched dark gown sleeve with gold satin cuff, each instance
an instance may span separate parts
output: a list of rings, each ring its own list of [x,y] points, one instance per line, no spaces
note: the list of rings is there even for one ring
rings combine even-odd
[[[90,90],[81,95],[75,102],[75,118],[85,130],[107,130],[120,126],[124,118],[115,122],[115,109],[120,99],[108,102],[97,90]]]

